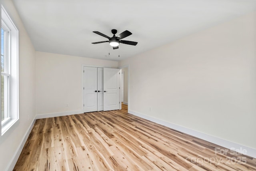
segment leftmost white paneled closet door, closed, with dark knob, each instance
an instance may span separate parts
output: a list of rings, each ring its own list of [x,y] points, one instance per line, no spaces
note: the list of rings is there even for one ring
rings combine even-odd
[[[84,112],[97,111],[97,68],[84,67]]]

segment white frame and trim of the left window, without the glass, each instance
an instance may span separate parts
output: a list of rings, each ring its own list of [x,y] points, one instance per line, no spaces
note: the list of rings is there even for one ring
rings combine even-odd
[[[6,49],[5,70],[1,72],[4,76],[6,84],[4,86],[4,116],[1,118],[1,135],[3,135],[16,121],[19,119],[19,90],[18,90],[18,29],[14,22],[2,7],[2,25],[1,27],[6,31]],[[0,116],[2,117],[2,115]]]

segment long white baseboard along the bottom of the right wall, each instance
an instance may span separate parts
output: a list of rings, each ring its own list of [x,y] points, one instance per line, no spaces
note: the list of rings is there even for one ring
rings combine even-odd
[[[192,129],[189,129],[189,128],[186,128],[186,127],[182,127],[182,126],[179,126],[179,125],[167,122],[167,121],[163,121],[163,120],[157,119],[155,117],[144,115],[144,114],[138,113],[136,111],[128,110],[128,113],[130,113],[132,115],[136,115],[138,117],[142,117],[144,119],[147,119],[147,120],[155,122],[155,123],[159,123],[159,124],[164,125],[166,127],[175,129],[177,131],[180,131],[180,132],[183,132],[183,133],[186,133],[186,134],[189,134],[189,135],[192,135],[194,137],[203,139],[205,141],[209,141],[211,143],[220,145],[220,146],[225,147],[227,149],[239,150],[240,153],[243,153],[244,155],[248,155],[248,156],[256,158],[256,149],[246,147],[244,145],[240,145],[240,144],[237,144],[237,143],[234,143],[234,142],[231,142],[231,141],[227,141],[225,139],[214,137],[212,135],[208,135],[206,133],[195,131],[195,130],[192,130]]]

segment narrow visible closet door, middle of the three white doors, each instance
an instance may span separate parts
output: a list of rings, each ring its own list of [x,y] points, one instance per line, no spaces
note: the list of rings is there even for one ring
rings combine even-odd
[[[103,110],[103,68],[98,68],[98,111]]]

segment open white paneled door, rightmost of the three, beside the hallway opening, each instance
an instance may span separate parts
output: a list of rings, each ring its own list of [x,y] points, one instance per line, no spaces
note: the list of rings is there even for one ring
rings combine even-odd
[[[120,69],[103,68],[104,111],[120,109]]]

